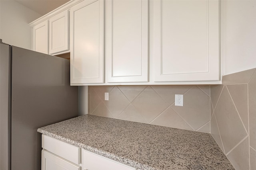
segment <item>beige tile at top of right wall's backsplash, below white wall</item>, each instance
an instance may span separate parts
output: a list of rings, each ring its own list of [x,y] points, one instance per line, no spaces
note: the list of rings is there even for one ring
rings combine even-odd
[[[255,68],[225,75],[222,78],[222,84],[248,83],[254,71]]]

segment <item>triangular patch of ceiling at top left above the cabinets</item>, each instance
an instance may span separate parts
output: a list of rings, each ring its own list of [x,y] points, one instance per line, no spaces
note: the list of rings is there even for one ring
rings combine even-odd
[[[70,0],[15,0],[16,2],[34,10],[42,16],[62,6]]]

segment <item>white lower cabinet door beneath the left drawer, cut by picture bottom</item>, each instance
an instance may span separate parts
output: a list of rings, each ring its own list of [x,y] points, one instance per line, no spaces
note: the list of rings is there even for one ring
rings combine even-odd
[[[46,150],[42,150],[42,170],[80,170],[81,167],[64,160]]]

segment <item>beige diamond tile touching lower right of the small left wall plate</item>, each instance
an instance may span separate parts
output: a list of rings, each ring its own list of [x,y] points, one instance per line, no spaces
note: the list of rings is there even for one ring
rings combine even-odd
[[[116,86],[109,92],[109,100],[103,100],[103,102],[114,117],[117,117],[130,104]]]

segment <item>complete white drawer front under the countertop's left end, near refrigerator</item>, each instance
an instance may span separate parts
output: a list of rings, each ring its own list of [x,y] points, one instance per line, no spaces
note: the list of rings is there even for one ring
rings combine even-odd
[[[70,162],[80,164],[80,148],[42,135],[42,148]]]

